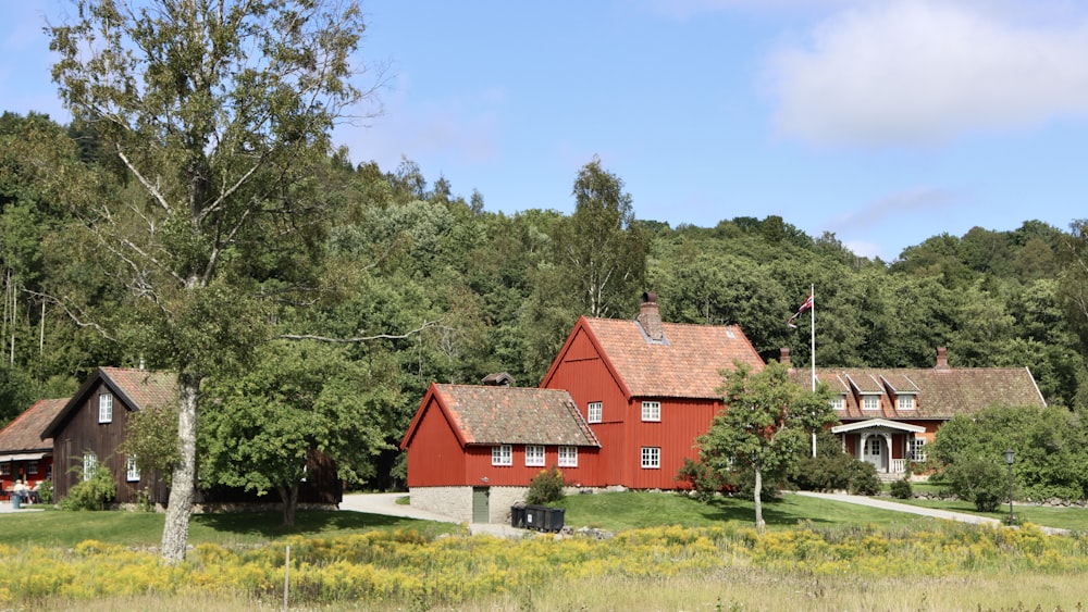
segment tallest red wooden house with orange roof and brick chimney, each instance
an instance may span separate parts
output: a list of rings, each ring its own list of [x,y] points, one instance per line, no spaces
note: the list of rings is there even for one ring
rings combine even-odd
[[[735,362],[764,366],[739,326],[663,323],[647,292],[633,321],[579,319],[541,387],[569,391],[601,440],[601,485],[675,489]]]

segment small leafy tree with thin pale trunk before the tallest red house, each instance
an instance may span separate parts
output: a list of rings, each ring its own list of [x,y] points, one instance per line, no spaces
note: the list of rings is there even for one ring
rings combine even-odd
[[[700,461],[721,475],[749,469],[755,474],[755,525],[763,520],[765,476],[782,474],[808,442],[812,426],[833,419],[826,387],[806,391],[789,377],[789,369],[769,362],[758,373],[737,363],[722,373],[724,408],[710,428],[696,439]]]

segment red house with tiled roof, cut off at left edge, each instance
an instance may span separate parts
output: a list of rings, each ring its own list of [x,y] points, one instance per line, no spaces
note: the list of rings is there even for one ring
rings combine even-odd
[[[53,475],[53,440],[41,438],[42,432],[66,399],[38,400],[0,430],[0,495],[10,499],[15,480],[29,487]]]

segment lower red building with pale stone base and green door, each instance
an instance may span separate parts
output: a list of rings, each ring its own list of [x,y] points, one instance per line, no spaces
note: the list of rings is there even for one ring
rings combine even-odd
[[[400,448],[413,508],[502,522],[542,470],[598,482],[601,444],[562,390],[431,384]]]

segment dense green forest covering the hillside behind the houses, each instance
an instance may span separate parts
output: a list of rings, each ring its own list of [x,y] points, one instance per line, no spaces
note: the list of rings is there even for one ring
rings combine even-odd
[[[638,195],[598,159],[571,177],[573,213],[504,214],[409,159],[381,168],[325,147],[292,160],[306,179],[290,192],[261,196],[268,214],[220,254],[225,279],[173,308],[138,262],[108,257],[122,252],[120,232],[95,230],[138,224],[98,202],[134,203],[137,216],[151,205],[102,142],[89,124],[0,117],[0,422],[67,397],[99,365],[218,355],[201,361],[202,392],[282,398],[274,382],[289,379],[309,385],[287,397],[309,397],[311,411],[351,403],[329,417],[363,439],[354,476],[387,486],[432,380],[508,372],[535,386],[579,316],[633,317],[645,290],[665,321],[739,324],[764,359],[788,347],[807,363],[807,325],[786,320],[811,285],[821,366],[927,367],[947,347],[953,367],[1026,366],[1049,403],[1088,407],[1086,221],[978,226],[886,262],[774,215],[638,218]],[[184,259],[184,232],[150,226]],[[191,334],[164,333],[162,317]]]

